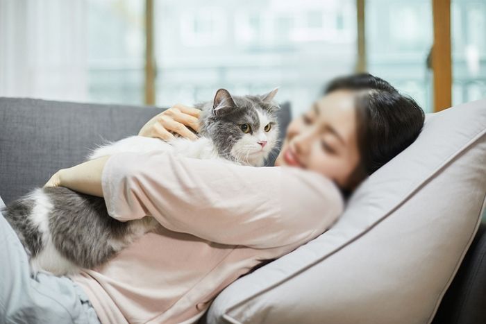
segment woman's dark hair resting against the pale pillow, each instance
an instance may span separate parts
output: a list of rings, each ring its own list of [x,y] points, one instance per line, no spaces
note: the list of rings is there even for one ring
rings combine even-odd
[[[325,93],[357,91],[358,149],[361,163],[350,179],[357,185],[407,148],[424,126],[424,110],[410,96],[400,94],[387,81],[371,74],[353,74],[332,80]]]

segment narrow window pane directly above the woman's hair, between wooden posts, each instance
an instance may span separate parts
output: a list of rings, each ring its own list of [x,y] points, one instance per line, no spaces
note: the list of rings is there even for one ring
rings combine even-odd
[[[427,57],[433,44],[431,1],[367,0],[367,63],[371,74],[432,107]]]

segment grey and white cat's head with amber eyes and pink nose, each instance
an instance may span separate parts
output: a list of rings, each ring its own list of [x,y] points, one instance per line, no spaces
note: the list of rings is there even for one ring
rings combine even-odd
[[[272,101],[277,89],[262,96],[231,96],[219,89],[201,123],[220,155],[242,164],[261,166],[276,147],[280,109]]]

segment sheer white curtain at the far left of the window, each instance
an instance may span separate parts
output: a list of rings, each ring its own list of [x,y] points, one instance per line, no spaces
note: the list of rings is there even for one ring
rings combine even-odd
[[[0,96],[87,100],[87,3],[0,0]]]

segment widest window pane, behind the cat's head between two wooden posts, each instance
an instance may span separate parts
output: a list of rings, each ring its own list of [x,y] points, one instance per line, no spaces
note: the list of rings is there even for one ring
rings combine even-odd
[[[299,114],[355,65],[355,0],[155,5],[158,105],[208,101],[220,87],[233,94],[280,87],[278,101]]]

